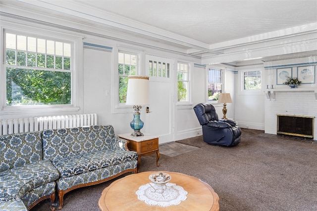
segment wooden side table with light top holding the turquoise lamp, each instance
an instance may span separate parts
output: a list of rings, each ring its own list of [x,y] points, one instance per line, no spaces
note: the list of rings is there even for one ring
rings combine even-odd
[[[141,156],[157,153],[157,167],[159,167],[159,137],[150,134],[134,137],[131,133],[119,134],[118,137],[128,140],[129,150],[138,153],[138,172],[140,172]]]

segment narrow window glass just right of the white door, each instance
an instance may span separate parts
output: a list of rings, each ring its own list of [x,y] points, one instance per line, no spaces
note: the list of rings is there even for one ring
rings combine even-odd
[[[187,63],[177,63],[177,101],[189,101],[189,65]]]

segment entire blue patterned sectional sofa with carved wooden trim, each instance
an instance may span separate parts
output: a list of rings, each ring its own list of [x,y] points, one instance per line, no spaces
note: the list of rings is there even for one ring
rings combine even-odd
[[[27,211],[79,187],[137,172],[138,154],[112,126],[47,129],[0,136],[0,210]],[[51,204],[52,205],[52,204]],[[52,210],[55,210],[51,206]]]

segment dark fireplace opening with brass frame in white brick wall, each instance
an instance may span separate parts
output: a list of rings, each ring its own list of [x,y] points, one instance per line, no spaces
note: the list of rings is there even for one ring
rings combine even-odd
[[[314,117],[277,114],[277,134],[314,138]]]

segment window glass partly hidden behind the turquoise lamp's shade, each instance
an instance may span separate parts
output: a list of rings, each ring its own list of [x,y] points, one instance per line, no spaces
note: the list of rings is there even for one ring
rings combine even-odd
[[[128,76],[137,75],[138,55],[136,53],[118,52],[119,103],[127,98]]]

